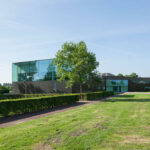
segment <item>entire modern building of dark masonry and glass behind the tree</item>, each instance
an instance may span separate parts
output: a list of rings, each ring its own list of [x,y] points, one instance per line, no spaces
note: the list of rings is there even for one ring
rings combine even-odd
[[[66,88],[65,82],[56,79],[56,66],[53,59],[35,60],[13,63],[12,65],[12,93],[77,93],[78,84]],[[150,91],[150,78],[118,77],[110,73],[102,74],[102,82],[92,89],[84,85],[83,91],[106,90],[114,92]]]

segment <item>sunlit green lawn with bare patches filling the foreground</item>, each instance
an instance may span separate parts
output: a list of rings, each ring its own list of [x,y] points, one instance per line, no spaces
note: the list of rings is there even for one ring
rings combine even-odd
[[[150,95],[128,94],[0,129],[0,150],[150,150]]]

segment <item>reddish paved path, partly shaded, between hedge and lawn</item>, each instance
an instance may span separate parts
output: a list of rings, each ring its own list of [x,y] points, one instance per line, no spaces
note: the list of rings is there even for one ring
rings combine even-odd
[[[119,96],[119,95],[117,95],[117,96]],[[113,96],[113,97],[116,97],[116,96]],[[72,105],[61,106],[61,107],[38,111],[38,112],[33,112],[33,113],[26,113],[23,115],[17,115],[17,116],[12,116],[12,117],[0,118],[0,128],[12,126],[15,124],[20,124],[23,122],[27,122],[27,121],[38,119],[38,118],[45,117],[45,116],[49,116],[49,115],[56,114],[59,112],[64,112],[67,110],[75,109],[75,108],[81,107],[83,105],[99,103],[106,99],[111,99],[113,97],[107,97],[107,98],[95,100],[95,101],[80,101],[80,102],[77,102],[76,104],[72,104]]]

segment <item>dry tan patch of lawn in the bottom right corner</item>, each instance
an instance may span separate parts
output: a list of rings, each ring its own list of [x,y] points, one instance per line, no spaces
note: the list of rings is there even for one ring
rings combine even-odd
[[[150,139],[144,136],[131,135],[124,137],[123,144],[134,143],[134,144],[150,144]]]

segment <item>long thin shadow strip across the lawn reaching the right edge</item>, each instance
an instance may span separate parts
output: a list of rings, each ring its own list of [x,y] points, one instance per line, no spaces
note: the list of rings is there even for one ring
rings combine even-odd
[[[150,102],[150,99],[108,99],[105,102]]]

